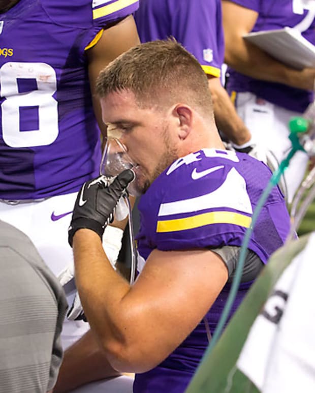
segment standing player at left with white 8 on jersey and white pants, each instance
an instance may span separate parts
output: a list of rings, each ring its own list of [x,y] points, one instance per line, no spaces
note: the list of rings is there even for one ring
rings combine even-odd
[[[59,275],[73,261],[67,233],[77,191],[99,172],[106,128],[94,82],[139,42],[132,16],[138,1],[1,5],[0,218],[26,233]],[[109,237],[115,243],[121,234],[114,228]],[[67,321],[64,348],[87,329],[83,321]]]

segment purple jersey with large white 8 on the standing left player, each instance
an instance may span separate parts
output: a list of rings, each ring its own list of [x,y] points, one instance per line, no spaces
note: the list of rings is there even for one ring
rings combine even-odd
[[[66,194],[98,174],[85,50],[137,8],[138,0],[20,0],[1,15],[0,198]]]

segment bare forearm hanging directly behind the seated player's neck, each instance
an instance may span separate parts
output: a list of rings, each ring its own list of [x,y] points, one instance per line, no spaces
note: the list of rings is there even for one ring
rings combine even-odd
[[[251,138],[250,131],[237,114],[220,79],[211,75],[207,76],[213,101],[215,122],[218,129],[236,145],[242,145],[248,142]]]

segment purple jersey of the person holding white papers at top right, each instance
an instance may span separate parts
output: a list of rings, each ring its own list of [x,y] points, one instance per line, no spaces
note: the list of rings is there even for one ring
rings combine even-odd
[[[252,32],[297,27],[302,36],[315,45],[315,20],[311,5],[303,0],[230,0],[242,7],[258,12],[259,16]],[[253,79],[228,69],[229,93],[250,92],[280,107],[303,113],[312,101],[312,92]]]

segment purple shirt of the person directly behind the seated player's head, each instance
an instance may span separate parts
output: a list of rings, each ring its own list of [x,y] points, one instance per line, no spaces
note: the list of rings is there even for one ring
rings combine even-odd
[[[224,36],[219,0],[141,0],[135,20],[141,42],[172,36],[206,74],[220,76]]]

